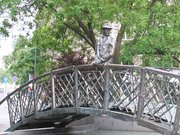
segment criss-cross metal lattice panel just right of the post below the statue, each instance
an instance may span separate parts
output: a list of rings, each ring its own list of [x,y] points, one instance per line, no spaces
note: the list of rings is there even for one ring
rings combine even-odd
[[[138,105],[140,71],[133,69],[110,70],[109,108],[135,113]]]

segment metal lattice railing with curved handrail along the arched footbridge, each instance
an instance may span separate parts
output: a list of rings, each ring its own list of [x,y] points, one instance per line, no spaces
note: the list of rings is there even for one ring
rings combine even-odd
[[[158,79],[159,75],[167,76],[169,79],[176,78],[179,81],[179,84],[174,84],[174,82],[169,82],[169,84],[167,84],[169,80],[166,80],[166,82],[162,80],[163,78],[159,80]],[[41,81],[41,79],[46,77],[48,77],[46,80]],[[47,82],[47,80],[49,82]],[[154,84],[155,81],[157,81],[156,84]],[[142,84],[144,82],[146,82],[146,84]],[[54,87],[54,83],[56,83],[57,88]],[[29,102],[28,93],[26,91],[21,91],[22,89],[26,89],[26,87],[29,84],[33,84],[33,96],[35,100],[34,103],[31,105],[27,104]],[[164,85],[162,90],[158,88],[161,85]],[[153,119],[156,120],[155,117],[158,116],[160,117],[161,122],[164,122],[164,119],[167,120],[166,118],[167,116],[165,114],[170,113],[171,115],[172,112],[168,112],[168,111],[171,111],[173,109],[173,106],[177,106],[176,107],[177,114],[173,117],[171,116],[171,118],[168,120],[169,126],[173,126],[172,132],[175,135],[175,133],[177,133],[177,131],[179,130],[179,127],[177,125],[179,125],[179,121],[180,121],[178,119],[179,117],[178,106],[180,106],[178,104],[179,96],[178,93],[176,92],[175,93],[177,95],[172,95],[173,93],[168,93],[168,92],[169,89],[171,89],[171,91],[177,89],[179,92],[180,91],[179,85],[180,85],[180,75],[176,75],[174,73],[170,73],[168,71],[161,69],[154,69],[150,67],[139,67],[132,65],[118,65],[118,64],[78,65],[78,66],[70,66],[66,68],[56,69],[51,72],[45,73],[35,78],[34,80],[30,80],[24,83],[19,88],[15,89],[15,91],[7,95],[2,101],[0,101],[0,105],[5,101],[9,101],[11,97],[13,97],[16,93],[18,93],[18,96],[15,96],[13,99],[14,102],[17,102],[14,111],[16,111],[16,109],[20,109],[19,112],[21,114],[19,114],[17,119],[20,119],[21,117],[25,119],[24,115],[28,117],[31,114],[34,113],[36,114],[37,111],[41,111],[40,109],[35,110],[35,108],[38,105],[42,104],[43,102],[42,99],[40,99],[42,97],[38,95],[38,93],[40,92],[45,94],[44,96],[51,95],[50,97],[52,102],[51,109],[57,107],[55,102],[58,102],[58,104],[61,105],[66,104],[65,101],[57,101],[63,99],[63,100],[67,100],[68,106],[70,105],[73,107],[83,107],[84,105],[86,106],[87,103],[88,106],[90,105],[90,107],[92,106],[92,108],[97,107],[99,109],[104,109],[105,112],[114,109],[123,110],[123,107],[125,107],[124,109],[126,113],[132,113],[132,112],[139,113],[136,114],[138,116],[138,119],[146,119],[146,117],[150,117],[150,118],[153,117]],[[164,93],[165,97],[163,97],[163,100],[159,99],[161,98],[159,95],[161,93],[158,93],[155,88],[158,88],[159,91]],[[87,91],[85,91],[85,89],[87,89]],[[100,93],[98,89],[101,92],[103,92],[103,95],[102,93]],[[163,91],[163,89],[165,89],[165,91]],[[60,93],[60,95],[57,95],[57,93],[55,94],[55,92]],[[61,95],[61,92],[64,93]],[[80,95],[79,98],[76,97],[78,95],[78,92],[81,92],[82,94]],[[85,95],[83,95],[83,93]],[[90,94],[90,96],[88,95],[88,93]],[[96,97],[92,96],[93,93],[96,94]],[[117,97],[113,97],[114,96],[113,94],[118,94],[118,93],[121,93],[121,95],[118,95]],[[87,96],[87,97],[83,99],[83,96]],[[172,96],[176,96],[175,98],[177,99],[177,101],[171,99]],[[18,99],[18,97],[20,97],[20,99]],[[108,101],[108,97],[111,98],[112,100],[111,102]],[[79,101],[80,99],[82,99],[82,101]],[[101,99],[103,100],[103,103]],[[167,103],[165,99],[168,100]],[[108,106],[107,102],[111,103],[114,108],[110,107],[110,105]],[[144,104],[144,102],[146,102],[146,104]],[[97,106],[95,105],[95,103]],[[17,105],[19,104],[20,107],[18,108]],[[152,109],[151,107],[154,104],[156,105],[153,106],[153,110],[151,110]],[[24,112],[21,106],[30,107],[29,112]],[[32,111],[33,106],[35,106],[34,107],[35,112]],[[103,106],[106,107],[103,108]],[[157,112],[158,110],[162,112]],[[10,117],[12,119],[10,120],[11,124],[12,121],[15,121],[15,123],[18,121],[18,120],[14,120],[15,116],[13,116],[13,114],[10,114]],[[174,123],[174,125],[172,125],[171,123]]]

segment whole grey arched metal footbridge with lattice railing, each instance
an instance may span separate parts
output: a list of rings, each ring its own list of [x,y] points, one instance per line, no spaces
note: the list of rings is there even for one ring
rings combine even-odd
[[[32,85],[32,91],[28,90]],[[10,129],[63,127],[106,115],[137,121],[167,135],[180,134],[180,75],[122,65],[80,65],[54,70],[7,95]],[[58,124],[57,124],[58,120]]]

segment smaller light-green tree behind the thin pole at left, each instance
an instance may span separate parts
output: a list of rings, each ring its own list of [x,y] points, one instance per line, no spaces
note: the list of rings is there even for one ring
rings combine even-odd
[[[19,83],[29,80],[29,74],[34,73],[35,48],[32,41],[20,36],[11,55],[5,56],[4,61],[12,75],[17,75]],[[37,49],[37,75],[41,75],[53,68],[56,64],[44,51]]]

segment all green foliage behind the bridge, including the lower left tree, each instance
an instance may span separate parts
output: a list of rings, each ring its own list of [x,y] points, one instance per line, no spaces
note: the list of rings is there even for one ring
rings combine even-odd
[[[11,21],[32,15],[36,24],[33,37],[30,40],[20,37],[13,54],[5,61],[11,72],[20,75],[24,82],[34,68],[35,46],[37,71],[41,74],[63,65],[57,58],[66,57],[77,48],[81,48],[81,54],[85,52],[84,47],[95,49],[102,23],[111,21],[120,22],[133,38],[120,42],[119,62],[132,64],[133,58],[140,54],[143,66],[179,66],[180,7],[177,3],[177,0],[170,4],[162,0],[1,1],[0,9],[10,13]],[[27,25],[33,27],[32,22]],[[0,33],[8,36],[9,28],[11,23],[5,18]],[[123,29],[119,35],[124,35]]]

